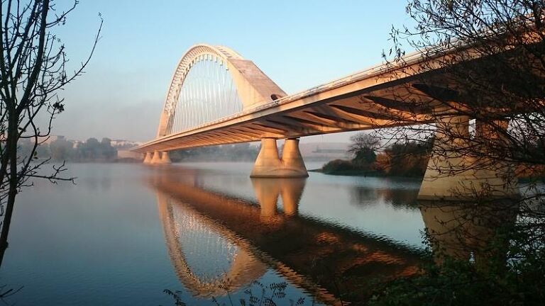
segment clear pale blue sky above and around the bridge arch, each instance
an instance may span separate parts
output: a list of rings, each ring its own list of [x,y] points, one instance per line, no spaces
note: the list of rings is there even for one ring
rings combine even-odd
[[[66,0],[58,1],[57,9]],[[85,74],[60,93],[53,134],[72,140],[155,137],[177,62],[194,44],[225,45],[252,60],[287,94],[382,62],[392,26],[411,21],[406,0],[185,1],[82,0],[62,40],[72,69],[91,50]],[[100,14],[100,16],[99,16]],[[351,133],[302,142],[348,142]]]

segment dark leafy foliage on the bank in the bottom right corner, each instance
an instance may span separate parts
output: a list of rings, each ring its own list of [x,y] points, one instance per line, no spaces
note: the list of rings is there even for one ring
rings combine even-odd
[[[527,232],[513,229],[507,237],[523,242]],[[427,241],[433,240],[427,237]],[[496,238],[498,239],[498,237]],[[499,239],[501,240],[501,239]],[[498,241],[498,240],[496,240]],[[496,244],[497,246],[497,244]],[[495,249],[493,251],[502,251]],[[524,248],[511,244],[509,261],[487,257],[485,268],[474,262],[443,256],[441,264],[428,263],[421,273],[378,285],[369,305],[544,305],[545,245]]]

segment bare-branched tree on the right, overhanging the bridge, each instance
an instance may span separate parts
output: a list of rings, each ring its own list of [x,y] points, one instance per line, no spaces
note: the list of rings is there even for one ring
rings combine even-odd
[[[475,210],[461,215],[475,217],[477,208],[512,212],[516,202],[517,225],[532,229],[541,246],[545,192],[536,178],[545,175],[544,9],[543,0],[409,0],[416,26],[394,28],[393,46],[384,52],[392,79],[405,81],[373,101],[397,108],[392,120],[409,125],[379,130],[385,143],[434,135],[428,170],[478,182],[453,188],[459,200],[473,199]],[[527,181],[519,198],[497,194],[521,176]]]

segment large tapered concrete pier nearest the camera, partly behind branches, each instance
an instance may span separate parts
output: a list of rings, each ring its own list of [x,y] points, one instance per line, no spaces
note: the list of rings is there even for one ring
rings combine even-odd
[[[475,137],[486,139],[470,140],[468,116],[441,118],[436,125],[438,130],[418,193],[419,200],[511,198],[517,195],[514,178],[508,173],[510,168],[487,159],[489,155],[485,152],[478,152],[479,143],[499,137],[497,134],[492,135],[490,129],[476,123]],[[469,148],[475,150],[474,153]]]

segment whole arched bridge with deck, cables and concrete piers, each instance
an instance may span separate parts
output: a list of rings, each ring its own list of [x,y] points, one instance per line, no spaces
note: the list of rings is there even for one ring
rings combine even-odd
[[[253,62],[233,50],[194,45],[172,76],[157,137],[133,151],[145,155],[145,164],[161,165],[170,164],[168,152],[175,149],[260,141],[251,176],[306,177],[299,137],[424,123],[468,134],[470,118],[448,108],[449,103],[459,105],[448,77],[440,69],[422,71],[424,61],[430,61],[429,57],[409,55],[402,65],[380,64],[288,96]],[[400,96],[422,107],[408,105]],[[481,124],[485,125],[476,123]],[[482,126],[478,130],[487,129]],[[281,157],[277,140],[285,140]],[[435,147],[459,145],[457,139],[436,133]],[[506,176],[494,169],[441,174],[446,172],[441,168],[463,164],[463,159],[432,155],[419,198],[456,198],[453,188],[468,182],[471,191],[483,183],[495,186],[495,196],[518,192],[516,183],[505,181],[502,178]]]

